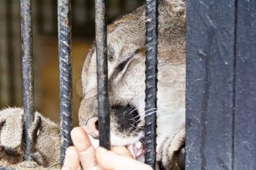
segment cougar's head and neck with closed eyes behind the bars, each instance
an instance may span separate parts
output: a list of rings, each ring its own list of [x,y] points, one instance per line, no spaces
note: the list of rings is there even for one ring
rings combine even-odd
[[[160,0],[158,25],[157,108],[145,111],[146,7],[108,26],[110,141],[127,146],[143,161],[144,117],[157,112],[158,169],[179,169],[184,147],[186,1]],[[96,47],[83,63],[79,123],[95,139],[97,129]]]

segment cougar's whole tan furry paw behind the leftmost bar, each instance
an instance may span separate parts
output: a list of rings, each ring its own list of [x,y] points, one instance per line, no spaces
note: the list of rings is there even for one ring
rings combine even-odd
[[[40,120],[40,121],[39,121]],[[23,109],[0,111],[0,166],[24,161]],[[59,126],[35,113],[29,129],[31,155],[39,165],[48,167],[60,161]]]

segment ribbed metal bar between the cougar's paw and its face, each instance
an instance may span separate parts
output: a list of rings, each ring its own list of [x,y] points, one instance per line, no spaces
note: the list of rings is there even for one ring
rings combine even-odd
[[[59,101],[61,119],[61,166],[71,144],[72,66],[71,66],[71,1],[58,1],[59,31]]]

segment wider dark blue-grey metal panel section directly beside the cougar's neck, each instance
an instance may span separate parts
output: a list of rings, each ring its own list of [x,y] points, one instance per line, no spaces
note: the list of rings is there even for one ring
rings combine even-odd
[[[235,7],[187,1],[187,170],[232,169]]]

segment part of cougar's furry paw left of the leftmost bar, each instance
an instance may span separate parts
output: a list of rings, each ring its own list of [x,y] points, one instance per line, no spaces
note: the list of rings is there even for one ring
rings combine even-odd
[[[0,166],[23,161],[23,109],[0,110]]]

